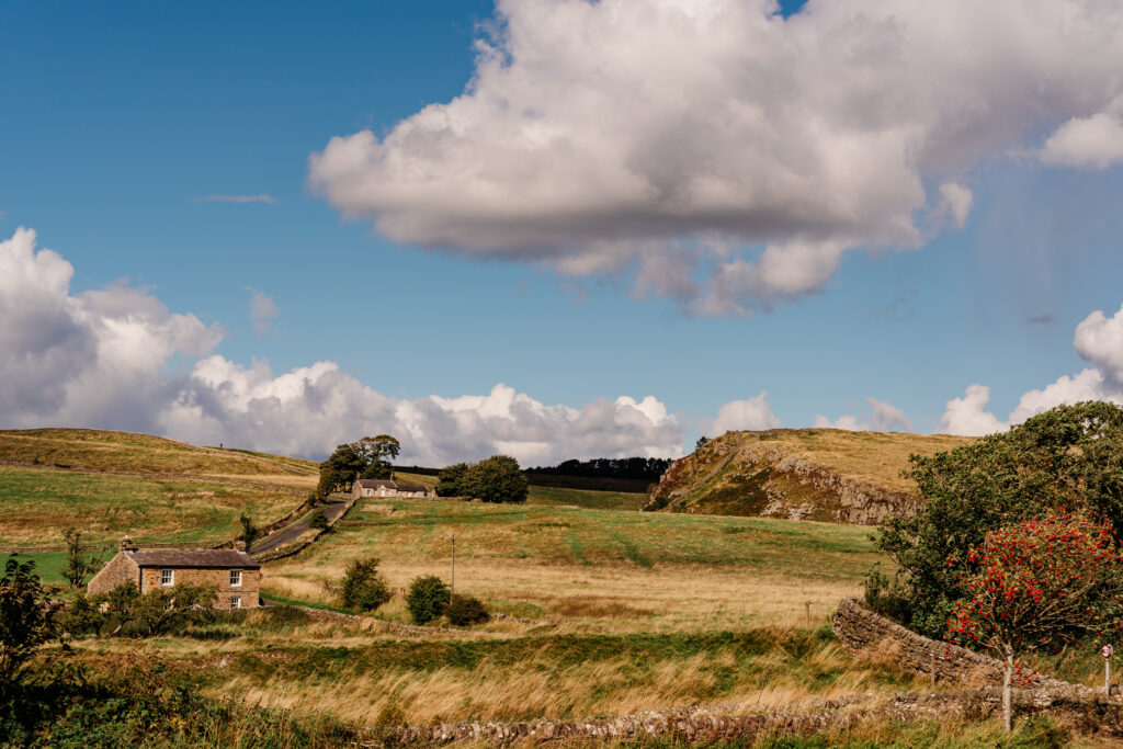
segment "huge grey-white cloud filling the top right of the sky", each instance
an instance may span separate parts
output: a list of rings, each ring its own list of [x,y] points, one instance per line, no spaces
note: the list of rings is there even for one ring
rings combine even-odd
[[[499,0],[463,95],[331,139],[309,181],[393,240],[636,273],[737,313],[960,227],[980,158],[1117,156],[1105,0]],[[1099,113],[1108,120],[1096,119]],[[1085,122],[1086,118],[1092,118]]]

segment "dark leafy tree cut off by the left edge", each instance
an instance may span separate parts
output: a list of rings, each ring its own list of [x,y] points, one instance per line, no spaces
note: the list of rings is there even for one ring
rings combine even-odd
[[[27,661],[51,634],[51,611],[35,561],[8,557],[0,577],[0,697],[19,688]]]

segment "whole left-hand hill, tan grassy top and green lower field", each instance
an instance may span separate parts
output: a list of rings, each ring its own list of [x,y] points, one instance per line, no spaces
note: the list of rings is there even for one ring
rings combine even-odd
[[[210,541],[301,503],[317,464],[93,429],[0,431],[0,546]]]

